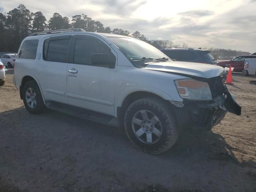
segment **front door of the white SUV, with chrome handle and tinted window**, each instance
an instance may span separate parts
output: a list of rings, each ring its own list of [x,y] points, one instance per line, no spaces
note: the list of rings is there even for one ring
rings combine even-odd
[[[110,46],[90,35],[75,35],[68,64],[68,104],[114,116],[115,68],[94,66],[93,54],[116,53]]]

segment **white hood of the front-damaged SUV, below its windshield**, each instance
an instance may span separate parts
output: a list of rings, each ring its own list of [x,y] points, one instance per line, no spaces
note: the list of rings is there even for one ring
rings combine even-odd
[[[143,69],[170,72],[185,76],[195,76],[201,78],[212,78],[225,73],[224,68],[211,64],[192,63],[192,62],[159,62],[146,63]]]

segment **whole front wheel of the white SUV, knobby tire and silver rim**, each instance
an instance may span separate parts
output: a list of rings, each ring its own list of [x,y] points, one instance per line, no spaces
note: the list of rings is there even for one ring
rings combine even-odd
[[[178,127],[170,106],[158,98],[133,102],[124,115],[126,135],[135,148],[151,154],[170,149],[178,139]]]

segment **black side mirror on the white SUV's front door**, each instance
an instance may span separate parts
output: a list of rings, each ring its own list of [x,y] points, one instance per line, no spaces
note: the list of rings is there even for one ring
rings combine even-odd
[[[104,54],[104,53],[93,53],[92,54],[92,65],[102,66],[108,68],[115,68],[116,66],[116,57],[113,54]]]

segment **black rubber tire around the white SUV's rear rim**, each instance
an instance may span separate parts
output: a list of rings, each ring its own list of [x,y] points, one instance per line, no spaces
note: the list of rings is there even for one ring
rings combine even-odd
[[[34,105],[34,108],[31,108],[29,106],[29,103],[27,102],[26,99],[26,91],[32,88],[32,90],[34,90],[34,93],[36,96],[34,96],[34,98],[36,99],[36,104]],[[28,81],[26,82],[26,84],[24,85],[23,89],[22,89],[22,99],[23,99],[23,103],[24,106],[26,107],[26,109],[28,110],[28,112],[30,112],[31,114],[40,114],[41,112],[43,112],[45,105],[44,105],[44,101],[40,92],[40,89],[38,87],[38,84],[35,81]]]

